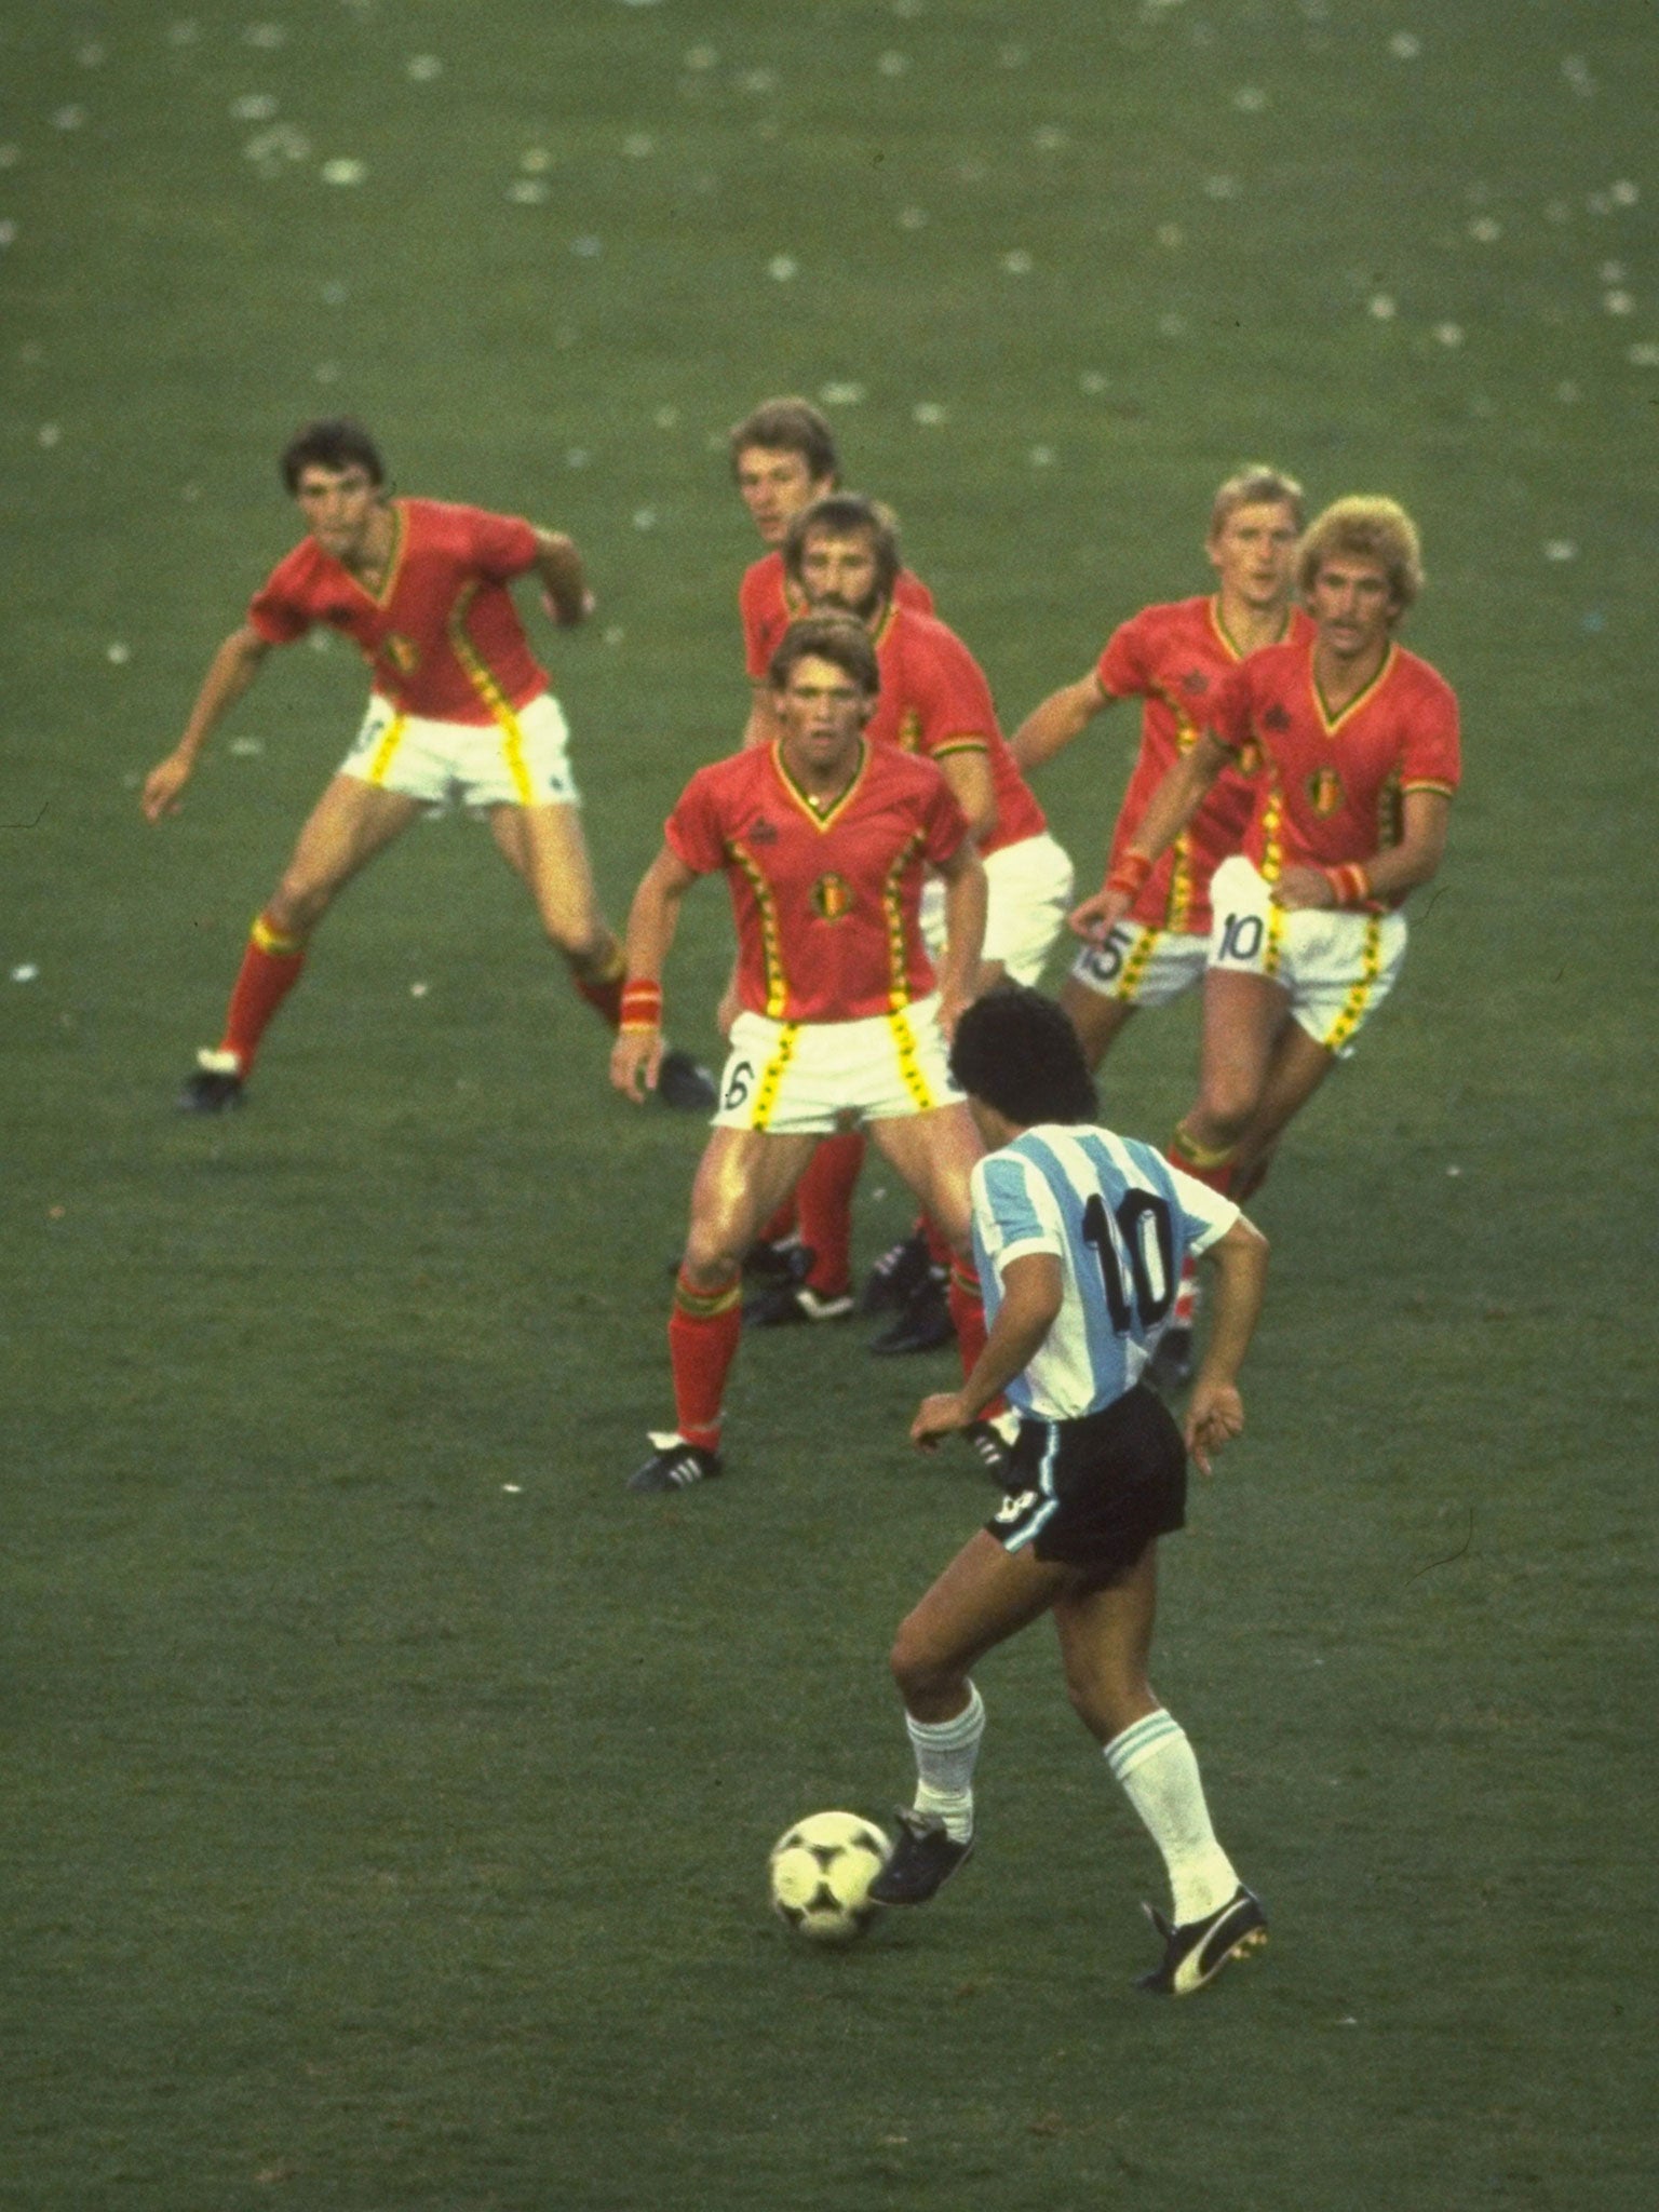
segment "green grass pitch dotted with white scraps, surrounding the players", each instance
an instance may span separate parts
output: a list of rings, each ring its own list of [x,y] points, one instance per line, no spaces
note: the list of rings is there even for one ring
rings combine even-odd
[[[0,71],[0,2205],[1648,2205],[1650,7],[2,0]],[[721,431],[836,387],[1011,723],[1250,456],[1407,500],[1464,701],[1168,1548],[1274,1913],[1192,2006],[1128,1986],[1157,1867],[1044,1632],[971,1874],[770,1927],[772,1836],[907,1790],[887,1637],[987,1493],[902,1442],[949,1363],[825,1332],[745,1347],[726,1482],[624,1495],[699,1130],[611,1097],[482,832],[349,894],[241,1119],[170,1110],[361,703],[285,655],[137,818],[288,429],[582,540],[622,914],[743,712]],[[1084,872],[1130,739],[1042,783]],[[710,1055],[726,949],[706,889]],[[1141,1024],[1113,1117],[1192,1051]]]

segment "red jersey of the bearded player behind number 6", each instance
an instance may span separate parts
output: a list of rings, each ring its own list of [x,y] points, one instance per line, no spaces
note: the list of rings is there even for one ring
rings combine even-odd
[[[894,602],[876,630],[880,697],[865,737],[902,752],[945,761],[953,752],[982,752],[991,765],[998,818],[980,852],[1002,852],[1048,827],[1020,763],[998,728],[991,686],[969,648],[931,615]]]

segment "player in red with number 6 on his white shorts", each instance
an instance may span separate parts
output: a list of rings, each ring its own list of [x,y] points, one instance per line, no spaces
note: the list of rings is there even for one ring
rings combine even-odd
[[[730,885],[743,1006],[668,1323],[677,1427],[653,1436],[630,1482],[637,1491],[684,1489],[721,1471],[743,1252],[843,1117],[867,1124],[945,1228],[969,1365],[984,1343],[967,1188],[980,1144],[945,1044],[980,962],[984,869],[938,768],[865,737],[878,681],[860,624],[792,624],[772,659],[783,734],[692,776],[628,916],[628,984],[611,1053],[619,1091],[641,1099],[657,1077],[664,960],[699,876],[723,872]],[[938,978],[918,922],[927,867],[945,878]],[[989,1420],[969,1440],[1000,1467]]]

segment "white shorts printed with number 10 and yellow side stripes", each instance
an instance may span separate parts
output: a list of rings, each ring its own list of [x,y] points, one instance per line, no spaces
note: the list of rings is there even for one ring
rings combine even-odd
[[[1287,911],[1243,854],[1210,878],[1210,967],[1276,982],[1294,1022],[1327,1053],[1347,1053],[1405,960],[1402,914]]]

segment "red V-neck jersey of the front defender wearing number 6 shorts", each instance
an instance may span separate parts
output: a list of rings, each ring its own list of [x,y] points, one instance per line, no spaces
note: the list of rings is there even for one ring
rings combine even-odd
[[[927,998],[922,874],[967,834],[938,768],[869,743],[825,814],[774,743],[699,768],[664,827],[686,867],[726,872],[737,995],[774,1022],[858,1022]]]

